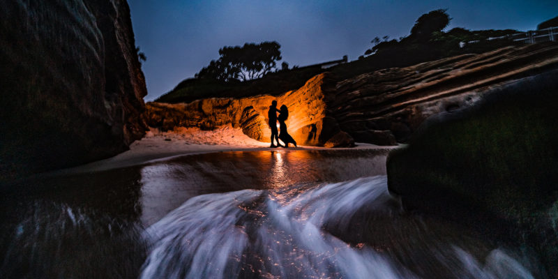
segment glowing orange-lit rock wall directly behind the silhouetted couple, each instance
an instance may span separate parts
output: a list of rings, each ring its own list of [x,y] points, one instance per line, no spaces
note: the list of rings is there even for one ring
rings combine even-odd
[[[350,146],[352,138],[342,132],[335,119],[326,115],[322,87],[328,75],[321,74],[308,80],[296,91],[281,96],[256,96],[250,98],[210,98],[192,103],[147,103],[146,118],[149,125],[172,130],[176,126],[213,129],[231,123],[243,132],[262,142],[269,142],[268,110],[277,100],[278,108],[287,105],[286,121],[289,134],[298,144]]]

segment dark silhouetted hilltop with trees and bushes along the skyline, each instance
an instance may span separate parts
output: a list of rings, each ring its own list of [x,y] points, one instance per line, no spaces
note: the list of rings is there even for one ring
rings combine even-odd
[[[469,31],[459,27],[444,31],[450,21],[446,10],[433,10],[418,17],[409,36],[399,40],[389,40],[387,36],[383,40],[375,38],[372,47],[359,60],[328,69],[319,66],[289,69],[285,62],[282,69],[276,68],[276,61],[281,59],[280,45],[276,42],[223,47],[219,51],[220,59],[211,61],[197,77],[183,80],[156,101],[188,103],[199,98],[276,96],[298,89],[311,77],[326,70],[342,80],[384,68],[412,66],[458,54],[478,54],[514,44],[506,38],[486,39],[518,33],[511,29]],[[478,42],[460,47],[460,42],[469,41]],[[246,55],[248,52],[250,55]],[[247,57],[255,58],[250,60]]]

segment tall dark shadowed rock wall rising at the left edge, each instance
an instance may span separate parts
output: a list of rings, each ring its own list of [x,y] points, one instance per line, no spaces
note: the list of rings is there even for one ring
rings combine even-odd
[[[0,7],[0,181],[114,156],[144,135],[128,3]]]

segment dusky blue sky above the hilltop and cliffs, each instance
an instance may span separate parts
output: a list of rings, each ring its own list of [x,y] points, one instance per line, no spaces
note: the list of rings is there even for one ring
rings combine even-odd
[[[355,60],[375,36],[407,36],[423,13],[447,8],[449,29],[532,30],[558,15],[557,0],[541,1],[246,1],[128,0],[136,45],[153,100],[193,77],[220,47],[276,40],[282,61],[304,66]],[[279,63],[280,64],[280,63]]]

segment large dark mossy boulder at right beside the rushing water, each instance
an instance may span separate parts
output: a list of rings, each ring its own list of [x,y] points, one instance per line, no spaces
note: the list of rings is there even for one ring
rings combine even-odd
[[[557,119],[558,70],[492,89],[390,153],[389,190],[407,208],[518,241],[558,274]]]

